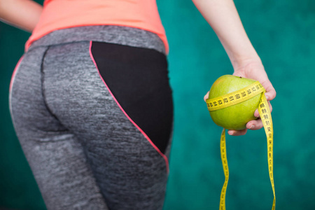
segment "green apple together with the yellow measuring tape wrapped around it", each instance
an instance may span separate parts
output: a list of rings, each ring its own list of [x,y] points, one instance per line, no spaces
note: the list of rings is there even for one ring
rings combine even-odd
[[[228,187],[229,169],[226,156],[225,129],[243,130],[246,123],[255,120],[253,113],[258,109],[262,125],[267,136],[267,155],[269,178],[274,193],[272,210],[276,209],[276,194],[273,176],[273,135],[272,116],[265,97],[265,88],[252,79],[225,75],[218,78],[211,86],[209,98],[206,100],[212,120],[223,127],[221,134],[221,160],[225,174],[225,182],[221,190],[220,210],[225,210],[225,193]]]

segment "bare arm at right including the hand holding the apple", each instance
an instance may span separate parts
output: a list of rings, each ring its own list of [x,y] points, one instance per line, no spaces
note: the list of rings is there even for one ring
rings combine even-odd
[[[276,91],[267,77],[260,57],[248,39],[234,2],[232,0],[193,0],[193,2],[214,29],[223,48],[228,53],[234,68],[233,74],[259,80],[265,87],[267,99],[269,101],[274,99]],[[208,94],[204,98],[207,97]],[[257,110],[254,115],[259,116]],[[260,119],[252,120],[247,123],[246,127],[251,130],[258,130],[262,128],[262,122]],[[230,130],[228,133],[242,135],[246,134],[246,129]]]

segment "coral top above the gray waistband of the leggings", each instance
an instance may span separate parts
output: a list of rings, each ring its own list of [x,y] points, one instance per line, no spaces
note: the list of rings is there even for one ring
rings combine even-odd
[[[135,27],[157,34],[168,43],[155,0],[45,0],[43,13],[25,48],[58,29],[89,25]]]

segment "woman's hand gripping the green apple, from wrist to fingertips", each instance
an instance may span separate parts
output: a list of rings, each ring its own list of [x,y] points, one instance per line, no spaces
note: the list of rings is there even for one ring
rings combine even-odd
[[[274,90],[272,83],[270,83],[267,77],[267,73],[264,69],[264,66],[262,66],[262,63],[260,62],[260,60],[244,62],[244,64],[240,64],[240,65],[235,64],[233,66],[235,66],[235,72],[233,73],[233,75],[258,80],[262,84],[262,86],[265,87],[265,90],[266,90],[265,96],[269,103],[270,111],[272,111],[272,106],[269,101],[271,101],[272,99],[274,99],[274,97],[276,97],[276,90]],[[208,95],[209,95],[209,92],[207,92],[207,94],[204,96],[204,100],[208,98]],[[258,109],[256,109],[254,116],[256,118],[259,117]],[[240,136],[240,135],[246,134],[247,129],[259,130],[262,127],[263,127],[262,121],[260,118],[258,118],[257,120],[249,121],[246,124],[246,129],[229,130],[228,134],[232,136]]]

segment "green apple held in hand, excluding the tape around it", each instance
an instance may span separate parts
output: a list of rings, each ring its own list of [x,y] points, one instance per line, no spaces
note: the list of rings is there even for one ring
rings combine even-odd
[[[235,92],[252,83],[255,83],[255,80],[232,75],[221,76],[211,86],[209,99]],[[224,127],[225,129],[243,130],[246,128],[246,123],[250,120],[257,119],[253,114],[255,110],[258,109],[261,94],[262,93],[245,102],[218,109],[216,111],[210,111],[210,116],[216,125]]]

